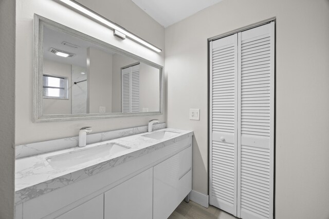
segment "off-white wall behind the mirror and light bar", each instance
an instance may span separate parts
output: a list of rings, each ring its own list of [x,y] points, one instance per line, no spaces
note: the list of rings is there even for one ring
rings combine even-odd
[[[127,30],[159,48],[164,48],[164,29],[130,0],[79,0],[79,3],[111,19]],[[164,52],[153,52],[130,39],[124,41],[113,36],[104,26],[60,5],[52,0],[16,1],[16,145],[78,135],[83,126],[92,126],[93,132],[146,125],[152,118],[165,122],[165,114],[98,120],[79,120],[51,123],[32,123],[32,56],[33,14],[84,32],[106,43],[135,53],[159,65],[164,65]],[[51,131],[49,131],[51,130]]]

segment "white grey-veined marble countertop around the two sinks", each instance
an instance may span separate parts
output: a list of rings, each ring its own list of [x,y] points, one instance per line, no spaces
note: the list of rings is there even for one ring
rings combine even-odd
[[[124,162],[131,161],[134,158],[161,149],[193,135],[192,131],[171,128],[160,129],[152,133],[161,132],[163,130],[177,132],[177,134],[165,140],[155,140],[153,138],[144,137],[142,135],[147,133],[141,133],[104,141],[102,143],[116,143],[130,147],[130,149],[118,152],[112,156],[105,155],[94,158],[91,161],[68,168],[53,168],[48,163],[47,158],[63,153],[97,147],[99,143],[89,144],[83,148],[74,147],[17,159],[15,161],[15,203],[23,203],[34,197],[75,183],[83,178],[118,166]]]

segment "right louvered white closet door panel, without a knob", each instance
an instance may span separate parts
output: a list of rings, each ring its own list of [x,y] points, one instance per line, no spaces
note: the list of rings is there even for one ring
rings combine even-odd
[[[238,206],[241,218],[273,213],[274,22],[239,39]]]

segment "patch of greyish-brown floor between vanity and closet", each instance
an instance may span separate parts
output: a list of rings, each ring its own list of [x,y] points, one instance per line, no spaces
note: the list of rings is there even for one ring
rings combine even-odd
[[[226,213],[216,207],[205,208],[195,202],[186,203],[182,201],[168,219],[236,219],[233,215]]]

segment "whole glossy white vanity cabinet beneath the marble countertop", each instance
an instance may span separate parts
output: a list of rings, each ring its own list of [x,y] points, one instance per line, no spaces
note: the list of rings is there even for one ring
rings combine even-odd
[[[16,205],[15,219],[167,218],[192,189],[192,135]]]

